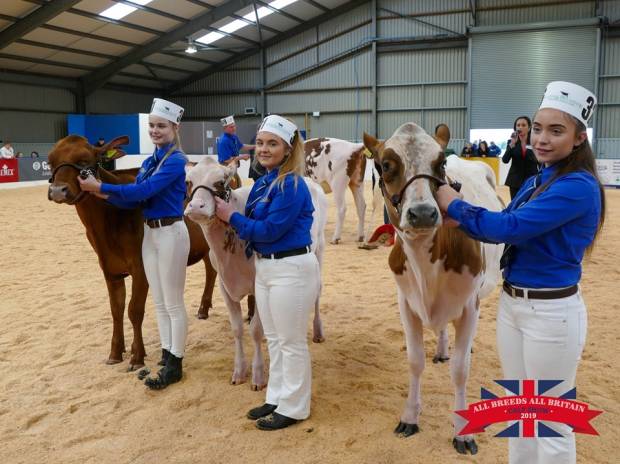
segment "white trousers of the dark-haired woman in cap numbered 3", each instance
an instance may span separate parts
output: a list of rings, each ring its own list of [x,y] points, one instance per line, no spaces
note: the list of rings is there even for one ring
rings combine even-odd
[[[588,330],[581,292],[555,300],[513,298],[502,291],[497,314],[497,347],[504,379],[563,380],[545,393],[559,396],[575,386]],[[509,438],[510,464],[573,464],[571,427],[545,423],[561,438]]]

